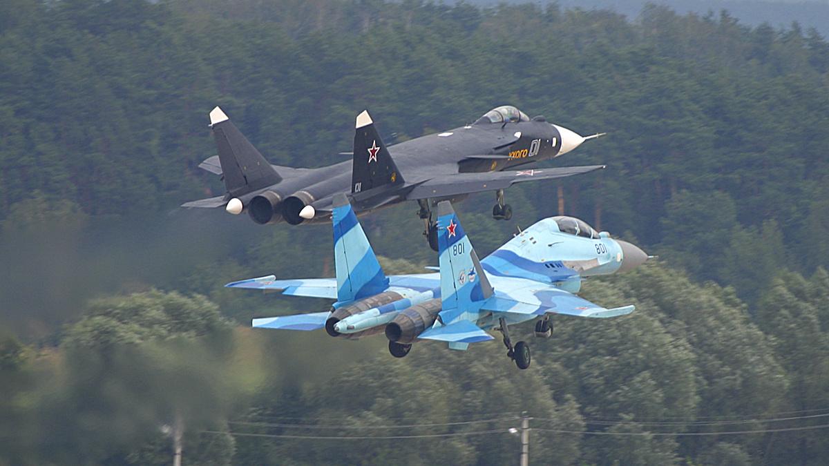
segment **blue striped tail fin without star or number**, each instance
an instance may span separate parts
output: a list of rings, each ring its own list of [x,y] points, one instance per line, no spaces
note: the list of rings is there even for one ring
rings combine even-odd
[[[333,208],[337,301],[345,303],[382,293],[389,288],[389,279],[345,194],[334,196]]]

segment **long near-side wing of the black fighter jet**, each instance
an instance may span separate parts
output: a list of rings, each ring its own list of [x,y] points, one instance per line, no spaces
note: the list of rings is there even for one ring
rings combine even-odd
[[[572,177],[582,173],[594,172],[604,165],[584,167],[555,167],[538,170],[519,170],[485,173],[452,173],[434,177],[418,186],[406,195],[406,199],[427,199],[431,197],[449,197],[472,192],[495,191],[511,187],[518,182],[549,180],[560,177]]]

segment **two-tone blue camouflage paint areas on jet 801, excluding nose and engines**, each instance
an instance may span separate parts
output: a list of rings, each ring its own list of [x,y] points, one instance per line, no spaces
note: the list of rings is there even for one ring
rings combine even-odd
[[[438,208],[439,273],[387,278],[343,195],[339,201],[335,200],[333,209],[335,279],[277,280],[274,275],[268,275],[226,286],[279,289],[283,294],[336,298],[335,308],[386,290],[401,294],[402,299],[356,313],[337,323],[351,326],[354,333],[385,325],[397,313],[423,299],[440,297],[442,309],[438,322],[418,337],[447,342],[448,347],[455,350],[465,350],[470,343],[493,339],[484,328],[496,328],[500,319],[513,325],[534,320],[545,313],[613,318],[633,312],[633,306],[603,308],[574,294],[582,276],[607,274],[619,269],[620,246],[607,235],[597,240],[562,233],[557,227],[553,228],[555,219],[548,218],[522,231],[479,263],[452,207],[448,202],[440,202]],[[600,245],[607,247],[600,250]],[[324,327],[329,316],[325,312],[259,318],[254,319],[253,325],[314,330]],[[343,333],[348,332],[344,330]]]

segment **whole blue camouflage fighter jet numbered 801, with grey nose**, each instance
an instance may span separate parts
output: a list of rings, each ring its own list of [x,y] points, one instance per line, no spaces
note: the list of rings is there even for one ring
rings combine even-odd
[[[494,339],[487,330],[497,330],[507,356],[526,369],[530,347],[512,344],[510,325],[536,320],[536,337],[550,337],[551,314],[612,318],[631,313],[632,305],[603,308],[576,293],[583,277],[633,269],[648,257],[584,221],[554,216],[478,260],[451,204],[442,201],[439,272],[386,276],[345,194],[334,199],[332,224],[336,278],[278,280],[269,275],[225,285],[336,299],[332,310],[255,318],[254,327],[325,328],[332,337],[345,338],[385,333],[394,357],[405,357],[414,342],[424,340],[465,350],[470,343]]]

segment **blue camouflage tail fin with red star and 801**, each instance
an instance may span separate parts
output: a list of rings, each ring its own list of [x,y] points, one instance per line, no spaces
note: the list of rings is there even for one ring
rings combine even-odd
[[[492,296],[492,285],[449,201],[438,203],[438,252],[443,308],[439,315],[448,325],[465,312],[478,311]]]

